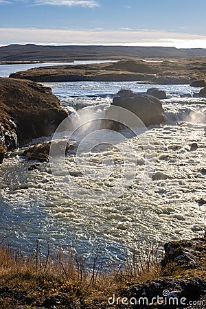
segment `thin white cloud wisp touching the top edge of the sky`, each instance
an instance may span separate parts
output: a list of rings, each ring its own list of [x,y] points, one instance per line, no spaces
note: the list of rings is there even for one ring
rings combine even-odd
[[[83,6],[87,8],[95,8],[100,6],[95,0],[36,0],[36,5],[67,5],[67,6]]]

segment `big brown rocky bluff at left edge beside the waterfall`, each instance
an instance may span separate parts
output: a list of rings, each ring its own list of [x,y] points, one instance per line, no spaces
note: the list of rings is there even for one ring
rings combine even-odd
[[[51,135],[67,113],[52,90],[28,80],[0,78],[0,145],[12,150]]]

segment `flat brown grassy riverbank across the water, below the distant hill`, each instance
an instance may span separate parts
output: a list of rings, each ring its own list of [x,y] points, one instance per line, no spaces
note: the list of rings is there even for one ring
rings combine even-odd
[[[38,67],[12,73],[10,77],[34,82],[139,81],[148,84],[192,84],[193,80],[205,80],[205,71],[203,58],[164,58],[154,62],[131,59],[112,64]]]

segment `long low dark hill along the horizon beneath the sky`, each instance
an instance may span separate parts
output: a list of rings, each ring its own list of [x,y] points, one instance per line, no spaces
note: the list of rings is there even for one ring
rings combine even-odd
[[[0,47],[0,61],[71,61],[118,58],[172,58],[206,56],[206,49],[128,46],[42,46],[34,44]]]

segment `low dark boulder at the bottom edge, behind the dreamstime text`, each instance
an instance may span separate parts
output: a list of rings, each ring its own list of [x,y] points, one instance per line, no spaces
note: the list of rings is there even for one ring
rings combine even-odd
[[[190,300],[195,301],[205,295],[205,288],[205,280],[198,277],[163,277],[131,286],[126,297],[131,300],[132,308],[185,308]]]

